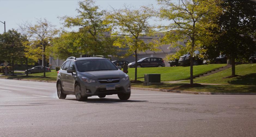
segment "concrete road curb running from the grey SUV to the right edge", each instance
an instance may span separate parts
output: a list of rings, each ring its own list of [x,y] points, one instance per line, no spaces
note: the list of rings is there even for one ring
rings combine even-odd
[[[151,90],[151,91],[163,91],[173,93],[186,93],[186,94],[203,94],[203,95],[256,95],[256,93],[217,93],[217,92],[196,92],[196,91],[183,91],[183,90],[164,90],[157,88],[138,88],[131,87],[133,90]]]

